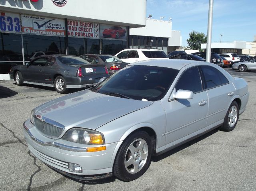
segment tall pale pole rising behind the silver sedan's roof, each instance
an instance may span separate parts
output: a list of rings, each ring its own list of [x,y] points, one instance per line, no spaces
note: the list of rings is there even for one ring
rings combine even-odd
[[[206,44],[206,62],[210,62],[210,59],[211,59],[211,46],[212,46],[212,12],[213,12],[213,0],[209,0],[207,44]]]

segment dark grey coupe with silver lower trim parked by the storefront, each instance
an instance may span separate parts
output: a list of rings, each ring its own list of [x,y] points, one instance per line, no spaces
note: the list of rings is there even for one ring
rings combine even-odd
[[[43,55],[10,70],[10,79],[18,86],[27,83],[55,87],[58,93],[65,93],[69,88],[95,86],[108,76],[104,65],[92,65],[70,55]]]

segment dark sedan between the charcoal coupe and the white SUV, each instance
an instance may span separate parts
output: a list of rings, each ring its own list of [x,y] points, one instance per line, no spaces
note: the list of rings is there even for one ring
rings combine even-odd
[[[85,54],[85,55],[81,55],[80,57],[85,59],[91,64],[106,65],[108,69],[108,73],[110,75],[114,74],[116,71],[120,70],[121,68],[129,64],[129,63],[123,62],[118,57],[115,57],[113,55]]]

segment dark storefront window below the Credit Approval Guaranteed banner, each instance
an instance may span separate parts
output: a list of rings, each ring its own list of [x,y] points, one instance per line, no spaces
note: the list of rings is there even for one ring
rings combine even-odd
[[[23,34],[24,57],[31,60],[41,54],[65,54],[65,37]]]

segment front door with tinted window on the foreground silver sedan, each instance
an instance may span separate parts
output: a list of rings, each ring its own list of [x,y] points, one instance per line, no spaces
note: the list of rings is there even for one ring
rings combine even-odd
[[[193,98],[173,99],[179,89],[192,91]],[[169,102],[163,104],[163,107],[166,111],[166,148],[205,131],[208,95],[202,89],[198,66],[190,67],[182,73]]]

